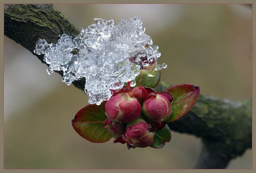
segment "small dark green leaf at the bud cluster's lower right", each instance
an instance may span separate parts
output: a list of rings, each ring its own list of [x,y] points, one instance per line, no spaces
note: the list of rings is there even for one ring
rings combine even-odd
[[[167,125],[163,127],[162,130],[154,131],[154,141],[150,145],[152,148],[162,148],[165,146],[165,142],[169,142],[171,140],[171,132]]]

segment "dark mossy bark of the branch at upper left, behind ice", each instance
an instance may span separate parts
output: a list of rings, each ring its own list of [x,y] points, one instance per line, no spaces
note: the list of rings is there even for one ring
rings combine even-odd
[[[33,54],[38,38],[57,43],[59,35],[77,36],[79,33],[51,4],[4,4],[4,35]],[[45,63],[44,55],[34,55]],[[62,71],[57,72],[63,75]],[[84,84],[85,79],[74,82],[79,89],[84,89]]]

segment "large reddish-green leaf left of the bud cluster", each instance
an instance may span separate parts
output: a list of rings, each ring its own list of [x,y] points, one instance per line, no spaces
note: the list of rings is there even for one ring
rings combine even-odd
[[[104,127],[106,120],[105,103],[101,105],[87,105],[76,113],[71,124],[83,138],[91,142],[102,143],[109,141],[111,135]]]

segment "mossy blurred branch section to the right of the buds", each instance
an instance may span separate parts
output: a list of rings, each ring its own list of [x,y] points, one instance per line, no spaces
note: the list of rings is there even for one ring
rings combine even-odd
[[[160,82],[155,90],[168,87]],[[200,94],[192,109],[169,127],[203,139],[197,169],[223,169],[232,158],[252,148],[252,100],[231,101]]]

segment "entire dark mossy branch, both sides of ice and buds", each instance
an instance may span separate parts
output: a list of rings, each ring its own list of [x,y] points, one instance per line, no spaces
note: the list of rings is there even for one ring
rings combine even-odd
[[[79,31],[53,5],[4,5],[4,34],[32,53],[38,38],[56,43],[59,34],[64,33],[75,36]],[[34,55],[45,63],[43,55]],[[85,80],[73,82],[82,90],[84,83]],[[155,90],[168,87],[160,82]],[[197,169],[224,169],[232,158],[252,148],[252,100],[231,101],[201,94],[195,106],[169,127],[202,138]]]

